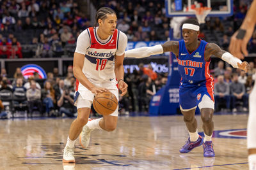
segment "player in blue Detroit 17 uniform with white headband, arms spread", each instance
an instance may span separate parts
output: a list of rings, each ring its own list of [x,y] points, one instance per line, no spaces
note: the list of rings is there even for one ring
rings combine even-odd
[[[182,146],[180,153],[188,153],[193,148],[203,145],[204,157],[214,157],[215,153],[212,147],[214,82],[209,72],[211,55],[215,55],[233,67],[244,71],[248,71],[249,64],[221,50],[220,46],[214,43],[207,43],[198,39],[198,34],[199,23],[197,20],[189,18],[182,24],[184,39],[181,41],[167,41],[163,45],[127,50],[125,57],[143,58],[163,52],[173,52],[176,55],[182,77],[179,90],[180,110],[189,132],[188,141]],[[203,122],[204,139],[199,136],[197,130],[195,119],[197,106],[200,109]]]

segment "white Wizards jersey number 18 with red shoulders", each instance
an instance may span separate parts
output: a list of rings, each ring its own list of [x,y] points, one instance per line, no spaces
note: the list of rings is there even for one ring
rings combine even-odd
[[[119,52],[116,52],[118,50],[118,39],[120,38],[120,33],[122,33],[122,37],[124,37],[125,34],[118,31],[118,29],[115,29],[113,35],[110,36],[105,43],[102,43],[102,41],[97,37],[97,29],[98,27],[89,27],[81,33],[88,34],[90,39],[90,45],[86,46],[86,50],[84,49],[84,43],[88,43],[88,38],[83,38],[84,40],[87,40],[86,42],[79,41],[78,38],[76,48],[76,52],[84,54],[83,73],[92,83],[115,79],[115,55],[122,55],[127,45],[126,40],[123,43],[125,46],[123,44],[120,45],[120,47],[122,46],[122,52],[120,52],[120,50]],[[125,36],[125,38],[127,37]],[[77,81],[76,90],[83,90],[84,88],[85,87]]]

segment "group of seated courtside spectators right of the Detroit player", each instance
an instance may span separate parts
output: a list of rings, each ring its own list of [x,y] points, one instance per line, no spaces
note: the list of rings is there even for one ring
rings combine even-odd
[[[229,66],[224,68],[222,60],[212,70],[215,111],[248,111],[248,97],[256,80],[255,64],[249,64],[248,73]]]

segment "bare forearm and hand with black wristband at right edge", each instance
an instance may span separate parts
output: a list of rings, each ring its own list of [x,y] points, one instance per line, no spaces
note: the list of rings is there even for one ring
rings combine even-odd
[[[250,9],[246,13],[243,24],[231,37],[229,50],[230,53],[239,57],[239,59],[244,59],[244,55],[248,55],[246,49],[248,41],[252,37],[254,27],[256,24],[256,0],[251,4]],[[244,55],[243,55],[244,54]]]

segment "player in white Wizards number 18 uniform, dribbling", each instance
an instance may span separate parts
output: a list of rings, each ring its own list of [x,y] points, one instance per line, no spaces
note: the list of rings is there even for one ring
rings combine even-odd
[[[99,26],[84,30],[77,38],[73,72],[77,78],[74,101],[78,115],[70,126],[63,163],[75,162],[74,145],[80,133],[80,143],[86,148],[93,129],[116,128],[118,108],[111,115],[88,122],[93,97],[109,90],[118,99],[118,88],[122,96],[127,92],[123,66],[127,36],[116,29],[116,13],[111,8],[100,8],[95,18]]]

